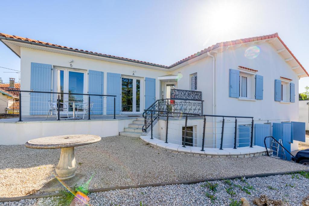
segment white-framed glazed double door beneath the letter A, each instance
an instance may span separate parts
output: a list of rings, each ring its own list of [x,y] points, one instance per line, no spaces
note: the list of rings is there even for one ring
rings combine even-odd
[[[121,112],[141,112],[141,86],[142,79],[136,77],[121,78]]]

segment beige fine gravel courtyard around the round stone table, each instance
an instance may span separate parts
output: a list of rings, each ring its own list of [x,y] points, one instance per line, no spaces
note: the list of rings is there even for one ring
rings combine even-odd
[[[0,146],[0,198],[36,193],[55,174],[60,149]],[[308,169],[266,156],[207,158],[154,149],[136,137],[105,137],[76,147],[78,173],[90,189]]]

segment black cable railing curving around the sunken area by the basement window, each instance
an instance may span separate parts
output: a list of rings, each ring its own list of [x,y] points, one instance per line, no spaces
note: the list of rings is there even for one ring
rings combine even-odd
[[[143,126],[143,131],[146,132],[146,129],[150,126],[151,127],[151,139],[153,139],[153,126],[154,126],[154,122],[158,121],[159,117],[164,117],[166,118],[166,124],[165,124],[165,143],[168,143],[168,134],[170,135],[174,135],[172,133],[169,133],[169,123],[170,124],[177,124],[175,122],[170,122],[170,120],[184,120],[184,125],[183,124],[179,124],[177,125],[178,128],[179,127],[183,127],[184,126],[184,130],[182,130],[182,137],[183,137],[183,141],[182,144],[183,147],[186,147],[186,145],[193,145],[193,139],[199,139],[198,137],[194,138],[194,137],[188,137],[187,133],[188,133],[188,118],[190,119],[190,121],[201,121],[201,119],[203,119],[203,134],[202,134],[202,141],[201,141],[201,151],[204,151],[205,146],[209,147],[212,146],[214,148],[217,148],[217,146],[220,145],[220,149],[223,149],[223,145],[233,145],[234,149],[237,149],[237,146],[241,147],[241,146],[250,146],[253,147],[253,125],[254,125],[254,120],[253,117],[250,116],[222,116],[222,115],[203,115],[200,112],[197,112],[197,110],[192,110],[194,112],[180,112],[180,111],[173,111],[172,109],[170,109],[169,107],[162,107],[164,108],[164,110],[162,110],[161,108],[159,109],[159,100],[157,100],[153,105],[151,105],[148,109],[146,109],[143,113],[143,117],[145,118],[145,125]],[[213,121],[210,121],[213,124],[213,127],[206,127],[206,118],[214,118]],[[222,119],[221,119],[222,118]],[[234,119],[235,121],[231,121],[231,119]],[[218,121],[218,119],[221,119],[220,121]],[[228,122],[226,123],[226,119],[228,119]],[[238,119],[245,119],[245,120],[241,120],[238,122]],[[250,120],[248,120],[250,119]],[[196,123],[198,124],[198,123]],[[217,127],[218,124],[221,124],[221,127]],[[227,124],[227,126],[226,126]],[[250,126],[244,126],[244,125],[250,125]],[[233,125],[233,126],[231,126]],[[240,127],[239,125],[242,125],[242,127]],[[162,126],[160,126],[162,127]],[[205,144],[205,129],[206,128],[212,128],[213,132],[208,133],[211,135],[214,135],[214,139],[207,139],[209,140],[214,140],[214,144],[210,145],[210,144]],[[220,132],[217,132],[216,130],[221,129]],[[175,131],[175,128],[170,128],[173,129]],[[228,131],[226,132],[225,129],[227,129]],[[240,129],[244,130],[239,132]],[[177,129],[176,129],[177,130]],[[191,131],[192,133],[192,131]],[[197,133],[197,132],[196,132]],[[220,144],[216,144],[216,141],[218,140],[218,138],[216,137],[217,134],[220,134],[221,138],[219,139]],[[225,135],[229,135],[230,138],[225,137]],[[228,144],[223,144],[224,140],[229,139],[228,141],[230,141],[231,139],[231,135],[233,135],[232,139],[233,139],[233,143],[228,143]],[[159,137],[161,138],[161,136]],[[190,143],[187,141],[188,138],[191,138],[189,140]],[[193,138],[193,139],[192,139]],[[238,140],[238,143],[237,143]],[[174,140],[173,140],[174,141]],[[232,147],[232,146],[231,146]],[[226,148],[226,147],[225,147]]]

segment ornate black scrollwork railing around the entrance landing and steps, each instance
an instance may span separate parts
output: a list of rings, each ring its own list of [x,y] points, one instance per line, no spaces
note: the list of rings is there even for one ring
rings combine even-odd
[[[189,116],[201,116],[203,114],[203,100],[188,101],[178,99],[159,99],[143,112],[145,119],[142,130],[146,132],[151,122],[160,116],[181,116],[187,114]],[[151,119],[152,116],[152,119]]]

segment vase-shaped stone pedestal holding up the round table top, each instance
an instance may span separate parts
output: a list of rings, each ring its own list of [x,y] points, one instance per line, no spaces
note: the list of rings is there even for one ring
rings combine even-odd
[[[61,148],[60,159],[56,167],[57,178],[70,179],[75,176],[77,165],[74,156],[74,147]]]

